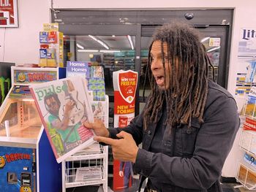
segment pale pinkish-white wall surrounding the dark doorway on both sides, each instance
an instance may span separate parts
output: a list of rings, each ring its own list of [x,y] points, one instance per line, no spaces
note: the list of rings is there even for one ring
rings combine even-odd
[[[227,90],[235,95],[236,72],[238,66],[238,39],[240,29],[256,28],[255,0],[233,1],[203,1],[203,0],[159,0],[159,1],[120,1],[120,0],[18,0],[18,28],[0,28],[0,61],[15,64],[37,64],[39,62],[39,31],[42,23],[50,23],[50,8],[68,9],[219,9],[233,8],[233,28],[230,48],[230,69],[228,74]],[[214,17],[214,15],[212,15]],[[243,101],[236,98],[239,110]],[[235,177],[238,157],[242,156],[238,147],[238,138],[225,166],[222,176]]]

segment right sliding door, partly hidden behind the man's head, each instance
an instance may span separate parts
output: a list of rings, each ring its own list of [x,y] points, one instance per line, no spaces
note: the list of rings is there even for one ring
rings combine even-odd
[[[146,73],[146,64],[148,62],[148,47],[152,40],[152,34],[157,26],[141,27],[141,51],[140,51],[140,112],[145,106],[146,97],[150,93],[150,85],[145,83],[145,91],[143,91]],[[208,77],[219,85],[227,88],[227,37],[228,26],[214,26],[208,28],[197,28],[201,34],[201,42],[206,47],[208,57],[213,66],[209,66]]]

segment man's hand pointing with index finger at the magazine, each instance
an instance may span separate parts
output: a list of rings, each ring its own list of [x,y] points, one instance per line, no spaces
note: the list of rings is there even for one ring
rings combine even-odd
[[[112,146],[113,158],[119,161],[132,161],[135,163],[138,146],[131,134],[121,131],[116,135],[120,139],[110,139],[106,137],[94,137],[97,142],[105,142],[105,144]]]

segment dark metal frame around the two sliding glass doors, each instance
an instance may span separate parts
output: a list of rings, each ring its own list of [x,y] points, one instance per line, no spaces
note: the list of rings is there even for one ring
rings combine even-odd
[[[194,18],[187,20],[185,14]],[[151,36],[156,26],[181,20],[203,34],[221,37],[219,85],[227,88],[233,9],[51,9],[52,23],[59,22],[65,35],[132,35],[135,36],[135,71],[140,77],[141,37]],[[139,79],[140,80],[140,79]],[[139,112],[139,86],[135,114]],[[110,97],[110,101],[113,98]]]

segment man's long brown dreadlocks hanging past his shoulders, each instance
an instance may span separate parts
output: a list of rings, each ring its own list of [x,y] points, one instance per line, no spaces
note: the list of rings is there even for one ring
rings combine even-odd
[[[159,90],[151,72],[151,47],[154,42],[162,42],[162,64],[170,65],[170,88]],[[167,43],[167,59],[163,44]],[[177,64],[178,62],[178,64]],[[144,111],[144,127],[157,123],[157,115],[166,101],[166,124],[170,127],[178,123],[191,127],[192,118],[203,123],[203,111],[208,93],[208,66],[211,62],[199,39],[199,32],[185,23],[169,23],[158,28],[149,47],[146,75],[151,85],[151,94]],[[165,74],[166,75],[166,74]],[[165,81],[167,78],[165,78]],[[166,85],[167,82],[165,82]]]

